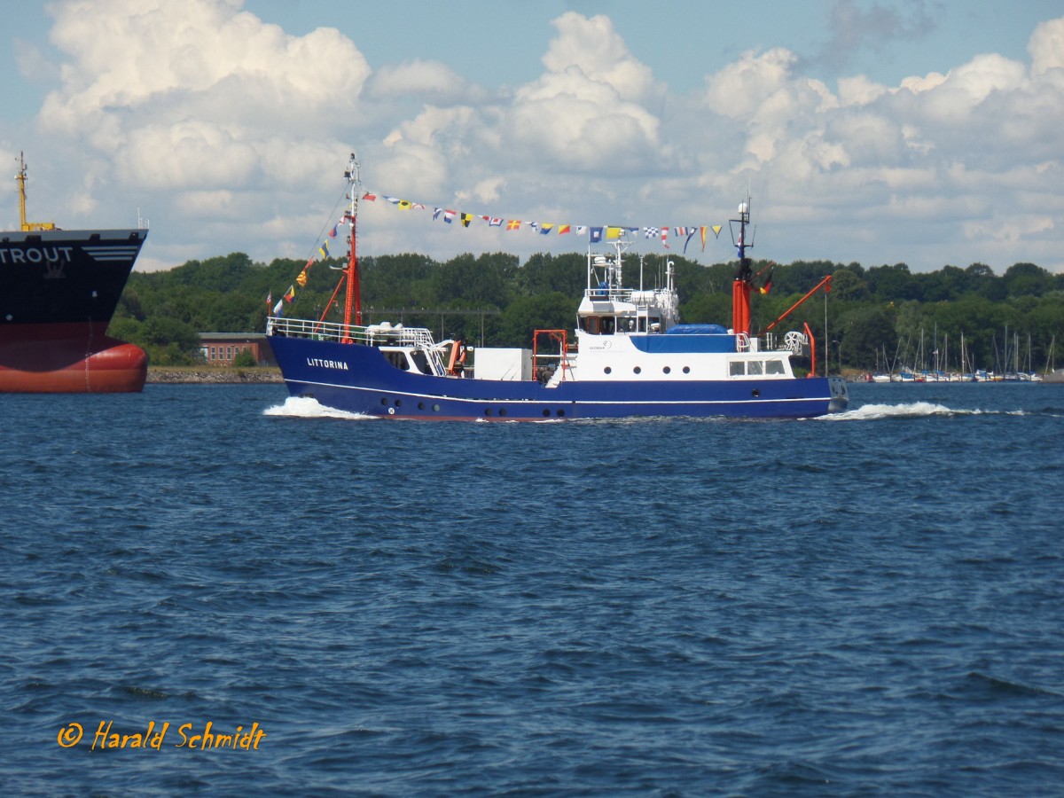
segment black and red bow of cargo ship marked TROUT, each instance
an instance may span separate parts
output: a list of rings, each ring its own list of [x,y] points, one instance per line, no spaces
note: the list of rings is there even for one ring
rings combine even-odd
[[[106,329],[147,234],[0,233],[0,392],[144,389],[144,350]]]

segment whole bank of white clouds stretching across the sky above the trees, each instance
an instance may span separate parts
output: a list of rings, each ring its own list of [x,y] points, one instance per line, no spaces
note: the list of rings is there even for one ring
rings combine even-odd
[[[928,22],[920,2],[902,15],[832,7],[839,56]],[[716,223],[752,187],[780,261],[1064,265],[1064,18],[1032,31],[1029,61],[986,53],[897,85],[853,74],[829,86],[769,47],[679,97],[606,16],[562,14],[543,71],[486,89],[429,60],[372,70],[339,31],[292,35],[242,0],[52,10],[61,65],[37,124],[79,164],[66,210],[113,223],[96,215],[114,197],[153,204],[160,265],[229,249],[305,255],[352,149],[375,189],[478,214]],[[362,240],[376,251],[549,246],[367,204]]]

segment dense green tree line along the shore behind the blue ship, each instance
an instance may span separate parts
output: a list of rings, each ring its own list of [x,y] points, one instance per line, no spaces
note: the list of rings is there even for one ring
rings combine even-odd
[[[629,253],[626,285],[638,286],[641,279],[646,287],[662,284],[666,257],[675,264],[683,320],[729,326],[734,262],[703,266],[677,255],[647,254],[641,261]],[[200,332],[264,332],[267,297],[276,304],[303,265],[290,259],[267,265],[234,252],[168,271],[134,272],[110,334],[143,347],[152,364],[195,364]],[[283,302],[284,315],[320,317],[344,265],[344,259],[316,262],[305,287],[297,287],[295,301]],[[359,266],[367,322],[423,326],[439,337],[481,346],[528,347],[534,330],[571,329],[586,285],[582,253],[538,253],[523,264],[504,252],[448,261],[404,253],[361,257]],[[955,370],[962,336],[969,368],[1000,369],[1012,346],[1005,331],[1010,338],[1014,333],[1023,337],[1025,359],[1030,340],[1030,360],[1038,368],[1050,344],[1064,336],[1064,275],[1031,263],[1016,263],[1001,276],[981,263],[914,273],[903,263],[865,268],[830,261],[754,261],[753,271],[757,285],[771,281],[767,294],[753,298],[754,331],[832,276],[827,302],[811,298],[778,330],[808,323],[817,342],[831,348],[834,370],[907,362],[944,342],[950,363],[943,367]],[[334,309],[330,317],[336,313]],[[920,350],[918,340],[924,343]]]

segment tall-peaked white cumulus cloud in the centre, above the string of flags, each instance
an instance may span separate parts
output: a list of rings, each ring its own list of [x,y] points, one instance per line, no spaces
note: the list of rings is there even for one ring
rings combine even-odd
[[[502,96],[471,89],[426,96],[416,116],[385,137],[389,152],[382,173],[400,186],[440,190],[446,185],[432,184],[433,178],[463,176],[464,185],[446,192],[456,198],[502,199],[509,185],[509,196],[527,206],[533,189],[548,183],[620,169],[646,173],[666,162],[670,148],[661,120],[645,104],[658,102],[663,89],[612,22],[570,12],[552,24],[556,35],[543,59],[547,71]],[[392,76],[381,85],[385,80],[396,85]],[[370,85],[376,92],[377,76]],[[499,170],[510,179],[500,179]],[[485,185],[492,186],[486,195]]]

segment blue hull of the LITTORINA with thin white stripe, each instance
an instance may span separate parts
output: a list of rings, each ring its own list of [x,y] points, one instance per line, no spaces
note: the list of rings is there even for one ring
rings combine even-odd
[[[628,416],[808,418],[845,410],[837,378],[732,381],[536,381],[433,377],[394,367],[359,344],[270,336],[292,396],[369,416],[534,420]]]

